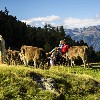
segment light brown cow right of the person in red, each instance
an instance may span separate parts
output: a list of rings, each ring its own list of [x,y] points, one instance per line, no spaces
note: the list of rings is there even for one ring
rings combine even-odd
[[[82,59],[84,67],[86,67],[86,64],[88,64],[88,47],[87,46],[72,46],[70,47],[68,51],[68,59],[71,60],[71,66],[74,66],[75,59],[78,59],[79,57]]]

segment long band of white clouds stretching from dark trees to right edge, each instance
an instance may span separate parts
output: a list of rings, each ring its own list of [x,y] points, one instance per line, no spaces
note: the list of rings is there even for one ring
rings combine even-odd
[[[83,28],[88,26],[100,25],[100,16],[97,14],[94,18],[73,18],[68,17],[65,19],[60,18],[59,16],[46,16],[46,17],[37,17],[31,18],[28,20],[22,20],[26,24],[31,26],[43,26],[45,23],[51,24],[52,26],[61,26],[64,28]]]

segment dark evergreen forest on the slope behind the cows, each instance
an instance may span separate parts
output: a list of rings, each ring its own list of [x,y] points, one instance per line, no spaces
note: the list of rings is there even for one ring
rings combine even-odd
[[[59,41],[66,39],[70,46],[87,45],[83,40],[75,42],[70,36],[67,36],[63,26],[54,27],[50,24],[44,27],[33,27],[27,25],[16,16],[9,15],[9,11],[5,7],[4,11],[0,11],[0,35],[5,40],[5,47],[8,49],[20,50],[22,45],[32,45],[43,48],[46,52],[51,51],[59,45]],[[100,52],[95,52],[93,47],[89,47],[90,62],[99,61]]]

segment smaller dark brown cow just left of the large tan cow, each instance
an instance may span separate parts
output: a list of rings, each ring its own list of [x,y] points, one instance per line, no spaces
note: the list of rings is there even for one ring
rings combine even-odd
[[[6,61],[8,65],[18,65],[21,64],[21,59],[19,51],[16,50],[6,50]]]

